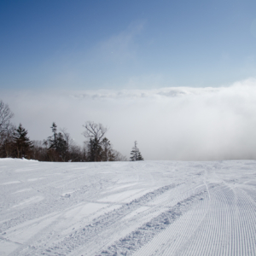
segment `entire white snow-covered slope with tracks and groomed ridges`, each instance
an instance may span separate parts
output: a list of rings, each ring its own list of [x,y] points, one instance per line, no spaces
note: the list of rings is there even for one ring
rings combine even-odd
[[[256,161],[0,160],[0,255],[256,255]]]

